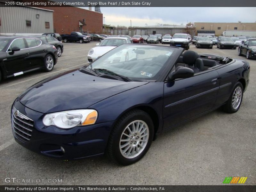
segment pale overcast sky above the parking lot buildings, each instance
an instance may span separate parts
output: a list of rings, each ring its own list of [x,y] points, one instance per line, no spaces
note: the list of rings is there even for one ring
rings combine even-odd
[[[93,9],[93,8],[92,8]],[[100,7],[105,24],[145,26],[191,22],[252,22],[256,7]]]

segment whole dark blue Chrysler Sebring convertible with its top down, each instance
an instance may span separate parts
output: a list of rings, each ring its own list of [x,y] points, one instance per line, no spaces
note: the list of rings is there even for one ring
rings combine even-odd
[[[127,52],[135,56],[123,60]],[[140,160],[164,129],[222,105],[236,112],[249,83],[249,63],[182,52],[123,44],[88,67],[33,85],[12,106],[15,140],[47,156],[107,153],[128,165]]]

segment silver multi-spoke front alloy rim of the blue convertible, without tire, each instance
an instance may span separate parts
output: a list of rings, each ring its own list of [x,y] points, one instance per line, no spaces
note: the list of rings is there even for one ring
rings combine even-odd
[[[147,146],[149,138],[148,125],[141,120],[128,124],[119,141],[119,149],[127,159],[139,156]]]

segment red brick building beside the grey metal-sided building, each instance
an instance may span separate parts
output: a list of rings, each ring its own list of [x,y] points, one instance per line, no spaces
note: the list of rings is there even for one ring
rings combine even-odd
[[[72,31],[102,33],[103,15],[78,7],[47,7],[53,12],[55,33],[69,34]]]

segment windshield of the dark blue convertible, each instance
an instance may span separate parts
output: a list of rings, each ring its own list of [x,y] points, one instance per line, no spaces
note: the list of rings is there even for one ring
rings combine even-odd
[[[123,44],[92,62],[92,69],[107,69],[138,81],[156,80],[166,61],[177,49],[171,47]],[[90,66],[87,67],[90,70]]]

